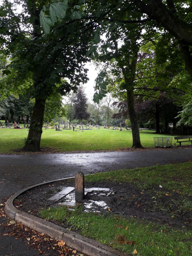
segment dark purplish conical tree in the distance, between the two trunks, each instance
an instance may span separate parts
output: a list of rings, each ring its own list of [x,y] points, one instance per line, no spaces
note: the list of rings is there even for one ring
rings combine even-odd
[[[73,99],[74,104],[74,118],[79,119],[82,123],[82,119],[89,119],[90,113],[87,113],[87,97],[84,93],[84,90],[82,87],[79,87],[77,90],[77,94]]]

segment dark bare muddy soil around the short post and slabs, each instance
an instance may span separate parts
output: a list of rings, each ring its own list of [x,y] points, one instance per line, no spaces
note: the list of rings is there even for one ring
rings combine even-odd
[[[74,186],[74,179],[48,183],[31,189],[20,195],[14,202],[14,205],[17,209],[38,216],[38,212],[41,209],[57,206],[58,202],[64,201],[64,198],[57,202],[47,199],[67,186]],[[192,227],[192,212],[189,209],[180,209],[180,205],[177,203],[182,202],[183,198],[177,192],[165,191],[160,187],[141,190],[137,189],[134,184],[116,183],[113,181],[86,182],[85,187],[113,189],[114,193],[110,196],[99,196],[99,193],[102,193],[100,191],[95,194],[88,193],[84,199],[84,203],[89,202],[89,200],[105,201],[110,208],[111,214],[120,214],[126,218],[155,221],[176,228],[182,228],[183,226],[187,228]],[[160,197],[157,196],[157,192],[160,194]],[[169,196],[169,193],[172,196]],[[191,200],[190,197],[187,199]],[[177,203],[173,203],[172,200],[175,200]],[[108,212],[108,208],[102,209],[100,207],[97,211]]]

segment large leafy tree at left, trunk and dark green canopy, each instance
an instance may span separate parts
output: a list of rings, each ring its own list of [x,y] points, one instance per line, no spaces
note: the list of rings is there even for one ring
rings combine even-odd
[[[76,19],[76,15],[80,13],[76,10],[79,8],[77,2],[73,1],[69,6],[66,1],[44,6],[43,2],[36,4],[34,0],[18,0],[14,3],[6,0],[0,10],[4,17],[1,38],[6,52],[12,54],[9,68],[4,73],[11,76],[10,72],[16,70],[16,73],[32,78],[30,89],[35,105],[24,151],[40,150],[47,98],[55,92],[65,95],[70,90],[76,91],[81,82],[87,81],[87,70],[83,63],[88,59],[85,55],[90,32],[83,20]],[[23,7],[18,15],[12,11],[17,4]],[[50,34],[50,18],[46,16],[48,6],[61,11],[55,14],[56,9],[53,10],[52,18],[58,26]],[[57,23],[65,13],[65,19],[60,24]],[[63,78],[68,78],[70,83],[63,81]]]

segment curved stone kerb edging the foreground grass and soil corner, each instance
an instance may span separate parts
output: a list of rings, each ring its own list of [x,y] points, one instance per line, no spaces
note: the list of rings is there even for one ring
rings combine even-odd
[[[76,250],[79,250],[81,253],[87,254],[88,256],[128,256],[127,253],[113,249],[93,239],[86,238],[73,231],[67,230],[64,227],[58,226],[49,221],[45,221],[41,218],[30,215],[26,212],[20,211],[19,209],[15,208],[13,205],[13,201],[19,195],[23,194],[29,189],[32,189],[36,186],[44,185],[46,183],[51,183],[59,180],[67,180],[70,178],[74,178],[74,177],[51,180],[51,181],[39,183],[33,186],[29,186],[26,189],[20,190],[19,192],[15,193],[15,195],[12,195],[7,200],[6,206],[5,206],[6,215],[9,218],[12,218],[17,222],[20,222],[31,229],[37,230],[40,233],[44,233],[59,241],[63,240],[68,246]]]

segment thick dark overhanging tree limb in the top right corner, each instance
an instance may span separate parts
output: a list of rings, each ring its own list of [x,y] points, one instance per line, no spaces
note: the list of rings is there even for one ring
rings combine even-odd
[[[185,69],[192,76],[192,24],[191,1],[135,0],[141,12],[160,23],[179,42]]]

